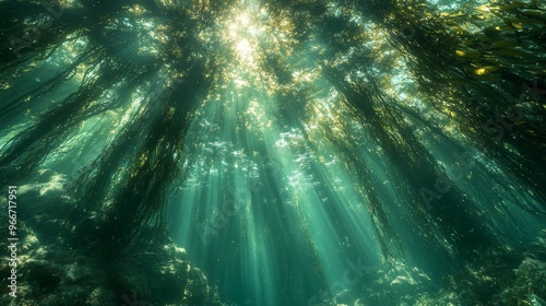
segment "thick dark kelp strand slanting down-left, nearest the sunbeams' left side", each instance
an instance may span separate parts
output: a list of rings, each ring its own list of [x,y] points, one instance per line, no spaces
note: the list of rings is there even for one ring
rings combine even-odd
[[[138,247],[142,226],[163,224],[162,209],[166,191],[180,170],[183,140],[191,111],[210,86],[203,67],[197,64],[183,73],[181,82],[176,85],[173,95],[164,102],[162,110],[151,118],[153,120],[150,126],[151,133],[145,136],[140,149],[133,151],[132,156],[124,155],[120,158],[120,152],[116,151],[109,154],[109,158],[118,158],[115,161],[117,163],[126,160],[127,170],[120,173],[118,178],[111,173],[116,168],[110,165],[98,174],[109,184],[105,184],[102,179],[93,179],[90,181],[91,186],[83,188],[91,192],[83,198],[84,200],[95,196],[106,196],[106,201],[109,202],[102,208],[108,220],[100,225],[98,232],[99,237],[111,239],[93,242],[95,250],[105,259],[120,255],[118,252],[130,251],[129,244]],[[114,150],[124,146],[126,140],[121,141]],[[102,188],[94,189],[94,187]],[[102,191],[105,188],[111,189],[112,192],[105,195]],[[86,207],[86,203],[81,201],[80,205]]]

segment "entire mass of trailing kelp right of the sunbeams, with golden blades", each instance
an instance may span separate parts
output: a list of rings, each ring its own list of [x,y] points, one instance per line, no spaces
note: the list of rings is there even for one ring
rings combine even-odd
[[[442,131],[443,123],[435,122],[425,114],[407,107],[403,101],[384,94],[379,85],[384,76],[372,71],[372,62],[379,60],[381,64],[389,67],[396,66],[396,61],[392,58],[383,59],[376,54],[381,52],[381,49],[366,46],[369,40],[377,38],[373,34],[363,33],[357,23],[352,22],[351,19],[358,12],[361,12],[363,19],[371,20],[375,23],[372,28],[384,35],[400,52],[399,56],[403,58],[419,92],[425,95],[424,103],[446,114],[450,125],[456,125],[461,137],[467,142],[450,141],[450,145],[456,149],[454,153],[464,153],[464,148],[461,146],[464,143],[476,145],[477,150],[488,158],[496,160],[499,167],[514,179],[521,179],[525,186],[534,186],[531,192],[538,195],[538,201],[520,199],[519,204],[533,213],[544,214],[544,195],[538,187],[545,177],[544,167],[541,166],[545,156],[541,144],[544,97],[537,95],[543,91],[541,75],[545,71],[538,38],[541,31],[544,31],[543,9],[536,3],[517,2],[480,7],[468,4],[464,8],[466,11],[461,8],[456,12],[440,12],[426,1],[405,1],[396,4],[382,2],[381,10],[370,11],[364,11],[366,3],[345,3],[346,5],[332,12],[329,3],[324,2],[313,2],[313,10],[306,10],[308,7],[298,2],[292,3],[294,11],[278,11],[293,16],[297,27],[302,28],[298,35],[305,38],[300,39],[320,37],[328,40],[328,46],[310,52],[310,56],[322,68],[324,78],[336,91],[343,93],[354,116],[361,120],[366,132],[373,134],[373,139],[395,165],[399,175],[407,179],[403,185],[412,186],[404,198],[420,198],[405,202],[413,205],[411,215],[417,219],[414,226],[427,227],[428,222],[441,220],[440,227],[446,233],[437,243],[441,245],[440,242],[446,237],[449,237],[448,240],[453,238],[447,246],[450,249],[456,246],[455,240],[460,240],[458,254],[468,250],[472,254],[468,244],[476,244],[477,248],[486,247],[487,242],[494,240],[486,237],[487,232],[496,231],[484,228],[483,225],[487,222],[480,217],[475,219],[477,215],[466,214],[468,211],[464,207],[473,205],[473,200],[459,190],[452,190],[452,178],[446,175],[440,164],[419,143],[414,132],[415,126],[406,125],[405,120],[416,120],[425,126],[427,132],[446,138],[448,136]],[[512,21],[509,19],[510,14]],[[525,19],[525,27],[519,24],[509,27],[506,24],[517,23],[513,17],[522,14],[527,17],[533,15],[535,19]],[[461,26],[468,30],[462,30]],[[487,38],[491,31],[498,33]],[[341,58],[343,60],[335,62]],[[534,92],[530,93],[532,84]],[[337,142],[344,148],[351,148],[346,142]],[[354,145],[352,150],[345,149],[345,155],[348,156],[348,152],[354,152],[355,149]],[[527,149],[531,151],[526,151]],[[485,176],[494,173],[483,167],[478,169],[467,157],[459,161],[455,158],[454,162],[461,163],[459,167],[462,168],[472,163],[470,167],[474,172],[485,172]],[[361,161],[353,161],[352,165],[360,179],[369,173],[365,170],[366,165]],[[440,178],[437,179],[437,185],[443,186],[435,189],[431,180],[436,178]],[[497,183],[510,189],[507,183]],[[423,188],[424,186],[427,188]],[[369,179],[365,189],[373,192]],[[442,189],[450,192],[443,196]],[[416,193],[418,190],[420,197]],[[370,200],[368,204],[375,208],[377,215],[382,216],[382,222],[387,221],[385,213],[381,212],[385,205],[380,204],[377,196],[370,196],[370,199],[377,199]],[[429,210],[430,207],[427,209],[434,200],[439,204],[432,210]],[[474,202],[478,201],[474,199]],[[431,219],[429,214],[436,216]],[[495,212],[490,212],[489,217],[494,217],[491,214]],[[472,220],[475,220],[476,228],[470,225]],[[450,222],[453,222],[453,227],[449,225]],[[387,224],[382,224],[381,228],[387,229],[385,226]],[[441,231],[426,229],[431,233]],[[453,233],[456,234],[452,235]],[[391,237],[396,237],[396,234],[391,234]]]

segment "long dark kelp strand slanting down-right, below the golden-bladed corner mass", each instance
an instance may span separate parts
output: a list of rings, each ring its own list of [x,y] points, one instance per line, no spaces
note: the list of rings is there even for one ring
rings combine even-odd
[[[432,155],[416,139],[413,130],[404,123],[401,114],[390,106],[392,103],[385,102],[388,97],[381,94],[376,82],[351,84],[340,72],[328,67],[323,70],[335,89],[343,93],[363,128],[371,134],[401,177],[407,179],[401,184],[411,187],[405,190],[408,192],[407,199],[420,198],[418,190],[429,186],[430,178],[447,177]],[[416,173],[423,175],[412,175]],[[458,257],[470,258],[472,249],[487,248],[495,243],[490,229],[467,209],[471,202],[458,188],[442,197],[434,208],[428,208],[424,201],[411,201],[406,204],[412,212],[413,225],[426,233],[437,233],[436,245],[444,246],[447,252],[454,251]],[[431,219],[428,214],[435,217]],[[435,220],[441,220],[441,223],[436,223]],[[465,225],[461,226],[463,220]]]

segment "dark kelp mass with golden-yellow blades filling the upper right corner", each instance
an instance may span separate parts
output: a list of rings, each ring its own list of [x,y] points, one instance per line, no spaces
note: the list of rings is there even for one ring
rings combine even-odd
[[[385,30],[431,105],[546,199],[537,187],[545,184],[546,162],[544,96],[536,94],[546,73],[542,9],[507,2],[440,13],[412,5],[393,11]]]

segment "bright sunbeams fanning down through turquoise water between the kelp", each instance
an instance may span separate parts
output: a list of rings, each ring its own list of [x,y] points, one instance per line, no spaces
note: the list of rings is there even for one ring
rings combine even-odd
[[[226,81],[190,127],[170,228],[226,302],[313,305],[360,282],[379,255],[351,184],[330,184],[351,181],[348,174],[314,155],[333,149],[309,151],[301,118],[278,125],[278,105],[289,102],[275,98],[276,84],[260,68],[260,43],[282,42],[272,37],[282,30],[271,26],[256,1],[241,2],[223,23]]]

